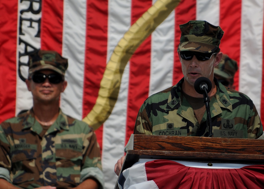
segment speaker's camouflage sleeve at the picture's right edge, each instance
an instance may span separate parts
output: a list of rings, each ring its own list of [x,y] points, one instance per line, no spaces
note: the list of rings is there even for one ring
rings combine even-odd
[[[252,102],[252,101],[251,101]],[[248,138],[259,138],[263,134],[263,126],[258,115],[257,109],[252,102],[251,114],[248,119]]]

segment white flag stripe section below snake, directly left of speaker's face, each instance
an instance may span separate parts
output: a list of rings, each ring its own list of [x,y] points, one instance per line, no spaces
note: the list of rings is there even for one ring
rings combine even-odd
[[[174,25],[175,11],[172,11],[151,35],[149,96],[173,85]]]

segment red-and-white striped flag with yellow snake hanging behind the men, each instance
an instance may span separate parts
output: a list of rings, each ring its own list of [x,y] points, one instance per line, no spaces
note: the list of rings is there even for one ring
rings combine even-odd
[[[221,51],[239,65],[236,89],[253,100],[263,122],[263,8],[263,0],[1,0],[0,122],[32,106],[25,84],[26,55],[37,48],[58,51],[69,61],[68,86],[60,98],[63,112],[92,125],[96,104],[112,107],[101,105],[97,113],[109,116],[94,128],[105,188],[114,188],[114,165],[124,155],[139,107],[183,77],[177,54],[179,24],[206,20],[221,26]],[[139,47],[133,50],[135,43]],[[124,55],[125,48],[133,54]],[[120,65],[112,64],[121,51]],[[117,72],[105,74],[111,69]],[[97,100],[100,90],[102,98]]]

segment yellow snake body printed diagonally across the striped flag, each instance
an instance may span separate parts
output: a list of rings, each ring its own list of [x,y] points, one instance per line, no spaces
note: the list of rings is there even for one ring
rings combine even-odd
[[[181,0],[157,0],[124,34],[106,65],[96,104],[83,121],[99,128],[111,114],[117,100],[122,74],[139,45],[175,9]]]

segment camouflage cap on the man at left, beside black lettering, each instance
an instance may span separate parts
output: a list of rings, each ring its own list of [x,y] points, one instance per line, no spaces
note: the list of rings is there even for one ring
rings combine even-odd
[[[65,75],[68,68],[68,59],[63,58],[56,51],[37,50],[29,55],[29,76],[34,72],[49,69]]]

